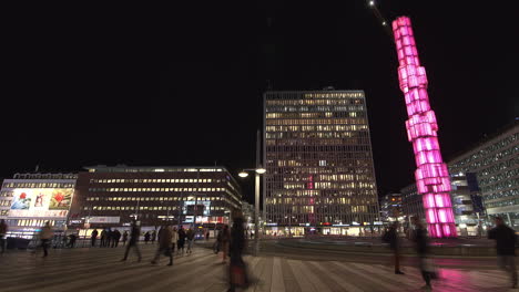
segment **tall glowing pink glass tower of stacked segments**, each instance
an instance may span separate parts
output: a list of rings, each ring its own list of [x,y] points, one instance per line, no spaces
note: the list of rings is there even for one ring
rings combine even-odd
[[[450,180],[441,159],[438,124],[427,95],[427,75],[420,66],[410,20],[400,17],[393,22],[398,54],[398,79],[406,100],[407,137],[413,143],[418,169],[415,171],[418,194],[423,195],[430,237],[456,237],[450,202]]]

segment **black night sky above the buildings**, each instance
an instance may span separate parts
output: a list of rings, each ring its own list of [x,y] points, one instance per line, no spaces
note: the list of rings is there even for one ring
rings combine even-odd
[[[513,7],[378,7],[389,20],[411,17],[446,159],[519,115]],[[19,7],[4,20],[0,177],[38,164],[216,161],[236,173],[254,165],[269,80],[274,90],[364,90],[380,195],[413,181],[395,49],[363,0]]]

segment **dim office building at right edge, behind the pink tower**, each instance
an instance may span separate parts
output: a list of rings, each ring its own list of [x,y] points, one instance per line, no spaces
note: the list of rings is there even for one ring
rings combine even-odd
[[[519,123],[457,156],[451,174],[476,174],[486,212],[519,227]]]

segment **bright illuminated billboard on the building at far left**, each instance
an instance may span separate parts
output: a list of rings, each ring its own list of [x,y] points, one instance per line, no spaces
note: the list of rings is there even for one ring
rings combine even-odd
[[[74,189],[14,189],[9,217],[67,217]]]

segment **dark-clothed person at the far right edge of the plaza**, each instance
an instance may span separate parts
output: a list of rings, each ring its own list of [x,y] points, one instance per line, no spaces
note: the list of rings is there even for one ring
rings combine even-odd
[[[498,265],[510,274],[512,288],[517,288],[516,232],[505,225],[501,217],[496,217],[496,227],[488,231],[488,238],[496,240]]]

